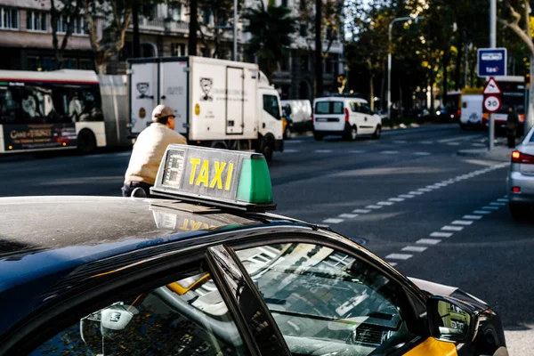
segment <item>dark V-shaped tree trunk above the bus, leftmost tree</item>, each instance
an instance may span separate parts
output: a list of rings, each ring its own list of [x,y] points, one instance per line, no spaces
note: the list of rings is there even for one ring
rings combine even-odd
[[[65,49],[69,43],[69,37],[74,32],[77,16],[79,16],[82,9],[82,0],[36,0],[45,6],[50,4],[50,25],[52,28],[52,45],[55,55],[56,69],[61,69],[63,66]],[[58,24],[60,19],[67,22],[63,38],[58,36]]]

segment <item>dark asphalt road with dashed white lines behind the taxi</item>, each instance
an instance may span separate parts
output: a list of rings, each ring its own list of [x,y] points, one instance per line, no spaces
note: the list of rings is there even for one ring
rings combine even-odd
[[[277,213],[365,239],[402,273],[480,297],[502,316],[510,354],[531,355],[534,222],[508,212],[507,160],[457,156],[483,141],[457,125],[290,140],[270,165]],[[0,196],[118,196],[129,154],[0,158]]]

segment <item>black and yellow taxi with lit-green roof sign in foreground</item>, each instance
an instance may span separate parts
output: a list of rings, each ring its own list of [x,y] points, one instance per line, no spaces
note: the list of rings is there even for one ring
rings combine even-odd
[[[1,355],[507,354],[481,300],[271,214],[262,155],[172,145],[151,192],[0,198]]]

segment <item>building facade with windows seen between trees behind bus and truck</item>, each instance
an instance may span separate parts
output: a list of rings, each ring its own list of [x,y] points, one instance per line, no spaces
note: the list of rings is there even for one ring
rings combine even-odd
[[[245,0],[245,7],[258,6],[259,2],[284,5],[292,10],[292,16],[302,17],[305,6],[313,6],[309,0]],[[50,3],[41,0],[0,0],[0,69],[53,70],[56,68],[50,16]],[[145,9],[146,10],[146,9]],[[147,11],[144,11],[146,13]],[[149,16],[140,18],[142,57],[188,55],[189,9],[181,4],[158,4],[148,9]],[[198,33],[198,55],[231,59],[233,34],[229,20],[216,20],[207,9],[198,9],[201,31]],[[58,21],[58,37],[61,43],[67,19]],[[217,22],[217,23],[216,23]],[[101,27],[101,20],[97,21]],[[343,28],[343,26],[339,26]],[[98,31],[97,31],[98,32]],[[331,35],[331,34],[330,34]],[[327,39],[329,38],[329,39]],[[342,34],[325,34],[323,51],[324,82],[326,93],[336,93],[337,77],[344,74]],[[238,60],[243,53],[249,35],[238,25]],[[283,99],[312,99],[314,94],[314,41],[310,24],[302,21],[289,49],[289,57],[283,61],[279,72],[272,77]],[[109,61],[110,74],[126,71],[126,60],[133,57],[133,27],[127,30],[122,52]],[[74,33],[69,37],[64,53],[64,69],[95,69],[93,51],[83,15],[75,19]]]

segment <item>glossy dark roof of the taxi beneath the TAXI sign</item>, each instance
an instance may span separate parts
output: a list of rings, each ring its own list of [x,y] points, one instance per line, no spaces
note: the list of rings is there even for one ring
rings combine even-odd
[[[207,235],[216,242],[223,231],[250,235],[266,224],[310,226],[274,214],[152,198],[0,198],[0,214],[0,300],[13,301],[0,305],[0,335],[7,322],[65,293],[63,284],[108,271],[106,261],[114,264],[109,257],[131,263],[139,259],[134,255],[149,258],[185,239],[193,241],[188,246]]]

